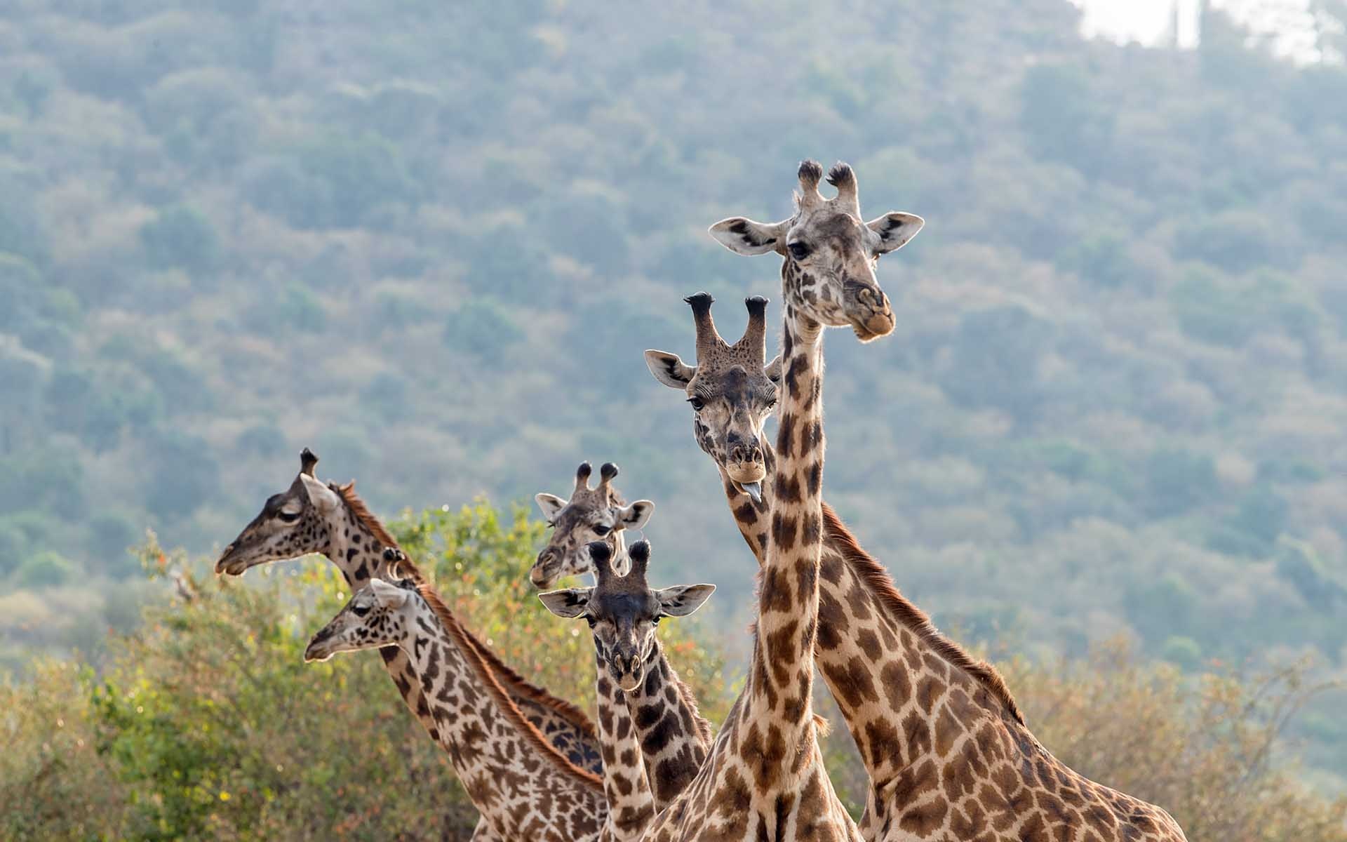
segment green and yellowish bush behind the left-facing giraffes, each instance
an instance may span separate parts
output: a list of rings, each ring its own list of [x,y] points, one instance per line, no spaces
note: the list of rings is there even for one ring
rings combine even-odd
[[[593,710],[587,630],[547,613],[525,579],[543,524],[478,503],[392,528],[506,663]],[[158,600],[114,637],[101,675],[39,664],[0,684],[0,837],[467,838],[475,811],[377,655],[303,663],[350,595],[333,564],[238,582],[154,542],[140,556],[186,597]],[[696,621],[660,632],[719,722],[731,688],[718,645]]]

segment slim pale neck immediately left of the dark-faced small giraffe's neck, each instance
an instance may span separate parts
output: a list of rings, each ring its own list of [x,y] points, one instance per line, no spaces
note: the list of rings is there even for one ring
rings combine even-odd
[[[603,750],[603,798],[607,823],[601,842],[640,838],[655,818],[655,796],[641,758],[641,745],[622,690],[607,675],[603,659],[594,653],[598,699],[598,736]]]

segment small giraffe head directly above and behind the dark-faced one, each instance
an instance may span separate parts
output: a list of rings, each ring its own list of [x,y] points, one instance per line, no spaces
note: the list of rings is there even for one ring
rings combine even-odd
[[[613,488],[617,465],[606,462],[598,469],[598,488],[590,488],[591,473],[590,463],[581,462],[570,500],[546,492],[535,497],[543,517],[552,527],[552,536],[528,571],[529,581],[537,587],[551,587],[562,577],[589,571],[590,556],[585,544],[594,540],[606,543],[618,563],[624,563],[626,544],[622,531],[640,529],[655,512],[655,504],[649,500],[637,500],[630,505],[622,501],[622,496]]]

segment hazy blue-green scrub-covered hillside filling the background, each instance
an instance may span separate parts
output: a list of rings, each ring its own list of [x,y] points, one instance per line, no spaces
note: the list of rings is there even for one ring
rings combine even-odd
[[[726,333],[776,296],[703,232],[787,216],[815,156],[928,220],[880,264],[896,335],[827,349],[828,498],[909,597],[1030,664],[1342,678],[1347,12],[1311,8],[1293,62],[1206,3],[1191,48],[1065,0],[5,3],[0,670],[158,663],[127,548],[218,548],[302,446],[381,512],[617,461],[742,628],[753,564],[640,352],[692,358],[688,292]],[[1278,741],[1319,792],[1343,702]]]

